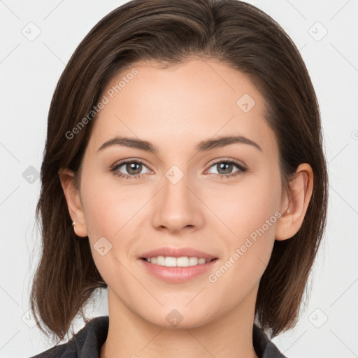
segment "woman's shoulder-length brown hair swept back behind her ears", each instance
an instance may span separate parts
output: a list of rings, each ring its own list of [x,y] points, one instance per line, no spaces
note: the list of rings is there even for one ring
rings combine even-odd
[[[103,17],[78,45],[59,78],[48,114],[41,166],[42,255],[30,305],[48,333],[61,340],[98,288],[106,288],[88,240],[78,240],[59,180],[77,174],[91,135],[89,120],[69,132],[98,103],[108,81],[134,62],[163,69],[188,59],[212,59],[244,73],[266,102],[265,118],[280,150],[282,185],[297,167],[313,168],[313,196],[295,236],[275,241],[259,284],[255,319],[273,336],[294,327],[327,211],[327,164],[320,112],[303,59],[271,17],[237,0],[134,0]],[[37,317],[36,317],[36,320]],[[39,321],[39,320],[38,320]],[[40,326],[43,333],[45,330]]]

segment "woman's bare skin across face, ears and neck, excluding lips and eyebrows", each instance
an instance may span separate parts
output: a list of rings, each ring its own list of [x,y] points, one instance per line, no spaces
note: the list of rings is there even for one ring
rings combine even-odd
[[[76,234],[88,236],[108,284],[110,325],[101,358],[257,357],[252,323],[259,280],[275,239],[291,238],[301,227],[312,169],[301,164],[289,191],[282,189],[278,143],[263,117],[264,98],[242,73],[211,60],[188,60],[166,70],[153,65],[132,66],[138,74],[94,121],[79,189],[71,171],[59,172]],[[107,90],[129,71],[113,78]],[[243,94],[256,103],[248,113],[236,105]],[[98,151],[117,135],[150,141],[158,153],[120,145]],[[200,141],[224,135],[245,136],[262,150],[244,143],[195,150]],[[136,168],[140,177],[123,179],[110,172],[121,159],[143,159],[145,165]],[[228,159],[248,170],[220,178],[218,173],[240,171],[235,164],[220,171],[217,164]],[[173,165],[184,174],[176,184],[165,176]],[[135,175],[127,169],[122,165],[117,173]],[[208,275],[277,212],[280,218],[210,282]],[[112,245],[104,256],[94,249],[102,236]],[[166,245],[203,250],[218,260],[192,280],[164,282],[138,257]],[[182,316],[176,327],[166,320],[173,309]]]

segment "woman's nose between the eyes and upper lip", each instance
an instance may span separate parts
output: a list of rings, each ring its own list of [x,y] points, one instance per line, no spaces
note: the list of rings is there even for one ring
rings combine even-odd
[[[175,175],[177,175],[176,173]],[[172,233],[182,230],[196,230],[202,227],[203,208],[198,189],[189,176],[184,175],[178,182],[171,176],[162,180],[162,190],[152,203],[154,215],[152,224],[156,229],[168,229]]]

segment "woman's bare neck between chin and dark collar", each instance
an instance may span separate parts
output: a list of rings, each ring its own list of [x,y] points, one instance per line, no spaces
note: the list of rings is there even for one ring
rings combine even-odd
[[[101,358],[257,358],[252,343],[255,299],[249,296],[199,327],[167,328],[136,315],[108,287],[109,327]]]

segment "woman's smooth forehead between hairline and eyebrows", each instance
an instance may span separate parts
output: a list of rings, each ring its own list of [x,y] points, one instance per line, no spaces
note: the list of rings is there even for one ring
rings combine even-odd
[[[110,80],[103,96],[107,103],[90,139],[97,149],[115,135],[164,146],[184,139],[194,147],[200,139],[232,134],[267,148],[275,142],[262,95],[243,73],[219,62],[192,60],[169,69],[136,62]]]

